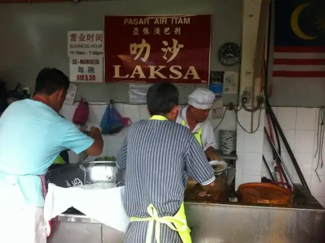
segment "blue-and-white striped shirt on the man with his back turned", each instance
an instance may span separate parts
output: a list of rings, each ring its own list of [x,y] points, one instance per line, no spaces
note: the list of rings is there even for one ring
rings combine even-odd
[[[126,168],[124,207],[130,217],[148,217],[150,204],[159,217],[173,216],[188,177],[202,185],[215,179],[193,134],[169,120],[141,120],[129,127],[116,163]]]

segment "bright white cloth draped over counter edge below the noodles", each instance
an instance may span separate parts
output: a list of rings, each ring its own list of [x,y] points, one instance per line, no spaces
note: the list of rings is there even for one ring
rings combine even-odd
[[[49,184],[44,218],[49,221],[74,207],[86,216],[118,231],[126,232],[129,217],[123,207],[124,186],[111,189],[63,188]]]

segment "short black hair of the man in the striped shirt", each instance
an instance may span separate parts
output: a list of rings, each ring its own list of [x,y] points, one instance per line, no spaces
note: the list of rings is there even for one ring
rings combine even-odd
[[[151,115],[165,115],[178,105],[179,92],[172,84],[154,84],[148,89],[146,98]]]

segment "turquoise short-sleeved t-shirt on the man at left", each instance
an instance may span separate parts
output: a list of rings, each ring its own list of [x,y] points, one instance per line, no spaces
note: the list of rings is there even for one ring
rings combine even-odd
[[[0,186],[12,187],[23,204],[43,207],[37,175],[44,175],[62,150],[78,154],[92,143],[49,106],[29,99],[16,101],[0,117]]]

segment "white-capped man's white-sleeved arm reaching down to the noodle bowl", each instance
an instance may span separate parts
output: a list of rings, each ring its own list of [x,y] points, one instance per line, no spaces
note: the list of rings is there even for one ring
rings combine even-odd
[[[213,127],[209,120],[206,120],[202,127],[202,135],[201,135],[203,149],[205,154],[211,160],[221,160],[221,158],[215,152],[216,141],[214,136]]]

